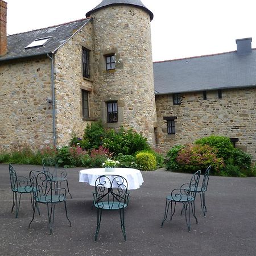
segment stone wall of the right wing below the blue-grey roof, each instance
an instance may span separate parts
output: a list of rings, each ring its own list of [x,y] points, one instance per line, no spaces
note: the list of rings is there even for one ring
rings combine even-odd
[[[209,135],[238,138],[237,147],[256,160],[256,88],[181,94],[181,105],[174,105],[172,95],[156,95],[158,147],[163,152],[175,144],[192,143]],[[175,134],[167,134],[163,117],[177,117]]]

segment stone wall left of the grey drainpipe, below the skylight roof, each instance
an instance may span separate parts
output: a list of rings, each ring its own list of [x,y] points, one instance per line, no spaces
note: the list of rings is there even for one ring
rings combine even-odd
[[[0,150],[52,145],[50,60],[1,63],[0,88]]]

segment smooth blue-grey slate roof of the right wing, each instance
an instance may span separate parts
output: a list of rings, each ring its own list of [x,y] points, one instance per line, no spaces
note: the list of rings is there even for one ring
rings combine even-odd
[[[155,92],[196,92],[256,85],[256,49],[159,61],[153,64]]]

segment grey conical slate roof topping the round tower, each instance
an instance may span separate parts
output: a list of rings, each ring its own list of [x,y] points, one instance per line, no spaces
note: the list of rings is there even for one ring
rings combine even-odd
[[[92,10],[88,11],[88,13],[86,13],[86,17],[89,17],[92,13],[94,13],[95,11],[97,11],[99,9],[102,9],[106,6],[111,6],[111,5],[133,5],[133,6],[137,6],[141,9],[143,9],[144,11],[146,11],[150,15],[150,20],[152,20],[153,17],[154,17],[153,13],[150,10],[148,10],[146,6],[143,5],[141,0],[102,0],[100,5],[96,6]]]

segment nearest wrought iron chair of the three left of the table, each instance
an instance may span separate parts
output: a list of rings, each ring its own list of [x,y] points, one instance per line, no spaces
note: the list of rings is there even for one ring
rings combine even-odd
[[[39,207],[39,204],[47,205],[47,213],[48,213],[48,223],[49,223],[49,231],[52,234],[53,221],[54,221],[54,213],[55,206],[59,203],[64,203],[66,217],[69,222],[69,226],[71,226],[71,221],[68,218],[67,213],[67,205],[66,205],[66,194],[67,191],[65,188],[56,188],[55,181],[51,181],[49,176],[42,171],[30,171],[30,182],[33,189],[34,195],[34,207],[33,207],[33,217],[28,225],[28,229],[35,217],[35,209]]]

